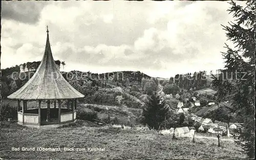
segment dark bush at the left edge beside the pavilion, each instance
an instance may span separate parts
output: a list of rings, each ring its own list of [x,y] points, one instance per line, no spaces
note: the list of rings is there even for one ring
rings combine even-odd
[[[17,119],[17,109],[9,103],[1,105],[1,121],[6,121],[8,118]]]

